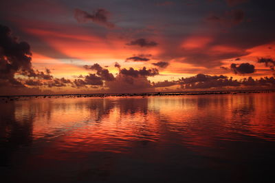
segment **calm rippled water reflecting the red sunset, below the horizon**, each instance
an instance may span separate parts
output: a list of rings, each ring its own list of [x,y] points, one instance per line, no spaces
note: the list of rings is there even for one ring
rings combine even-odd
[[[3,182],[274,180],[275,94],[0,101]]]

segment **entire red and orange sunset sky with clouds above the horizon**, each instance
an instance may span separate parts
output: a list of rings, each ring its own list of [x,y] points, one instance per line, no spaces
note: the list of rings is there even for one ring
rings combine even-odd
[[[1,4],[0,95],[275,88],[271,0]]]

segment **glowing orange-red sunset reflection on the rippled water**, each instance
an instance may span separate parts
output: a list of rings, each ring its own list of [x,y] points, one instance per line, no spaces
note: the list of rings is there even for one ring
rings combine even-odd
[[[202,147],[217,148],[218,142],[274,141],[274,99],[273,93],[46,98],[17,101],[6,113],[25,130],[30,127],[26,139],[47,143],[40,158],[65,160],[91,151],[126,154],[136,145],[158,143],[203,153]],[[4,129],[3,137],[14,130]]]

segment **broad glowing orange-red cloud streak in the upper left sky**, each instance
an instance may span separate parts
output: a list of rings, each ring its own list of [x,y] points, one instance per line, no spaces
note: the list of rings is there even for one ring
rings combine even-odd
[[[119,38],[101,38],[76,29],[80,34],[63,33],[54,30],[25,29],[29,34],[39,36],[48,45],[66,56],[80,60],[102,60],[114,62],[124,60],[132,54],[131,49],[124,47],[125,41]]]

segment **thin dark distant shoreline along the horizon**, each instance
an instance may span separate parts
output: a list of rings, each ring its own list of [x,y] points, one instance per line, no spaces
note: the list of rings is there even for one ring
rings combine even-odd
[[[13,97],[145,97],[173,95],[223,95],[238,93],[275,93],[275,90],[217,90],[217,91],[185,91],[185,92],[153,92],[153,93],[91,93],[91,94],[53,94],[53,95],[0,95],[0,98]]]

